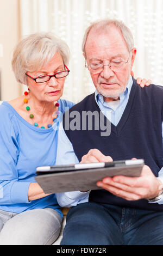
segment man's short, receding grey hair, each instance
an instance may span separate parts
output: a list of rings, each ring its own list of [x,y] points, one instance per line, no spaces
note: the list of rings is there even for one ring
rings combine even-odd
[[[117,29],[121,31],[122,36],[126,41],[128,51],[130,52],[131,49],[134,47],[134,38],[130,29],[122,21],[110,20],[110,19],[100,20],[100,21],[91,23],[91,25],[86,29],[84,34],[82,51],[85,53],[85,44],[86,44],[87,36],[89,35],[92,28],[95,29],[95,32],[101,33],[101,32],[107,32],[107,29],[110,26],[115,26]]]

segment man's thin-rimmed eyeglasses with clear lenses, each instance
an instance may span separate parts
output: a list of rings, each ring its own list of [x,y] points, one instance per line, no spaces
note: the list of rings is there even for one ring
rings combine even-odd
[[[114,72],[121,71],[124,66],[129,62],[129,58],[127,62],[124,62],[124,60],[120,60],[118,62],[110,62],[109,64],[104,65],[102,62],[98,63],[90,63],[89,65],[86,65],[86,59],[85,59],[85,68],[88,68],[93,74],[98,74],[103,71],[104,66],[109,66],[109,68]]]

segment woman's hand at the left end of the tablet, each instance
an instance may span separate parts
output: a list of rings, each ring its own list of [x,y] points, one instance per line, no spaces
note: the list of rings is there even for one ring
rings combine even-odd
[[[38,183],[36,182],[30,183],[28,188],[29,201],[33,201],[33,200],[40,199],[47,196],[49,196],[49,194],[45,194]]]

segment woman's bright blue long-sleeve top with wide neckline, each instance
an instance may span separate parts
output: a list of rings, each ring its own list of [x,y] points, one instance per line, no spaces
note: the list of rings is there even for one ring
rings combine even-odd
[[[61,115],[73,103],[58,101]],[[59,122],[60,118],[58,118]],[[56,123],[55,125],[59,125]],[[21,213],[38,208],[61,210],[54,194],[28,200],[28,188],[37,166],[55,164],[58,129],[41,129],[29,124],[6,101],[0,106],[0,209]]]

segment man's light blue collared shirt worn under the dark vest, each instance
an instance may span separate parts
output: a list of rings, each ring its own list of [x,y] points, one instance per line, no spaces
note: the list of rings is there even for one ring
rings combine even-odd
[[[95,92],[95,100],[97,102],[97,105],[99,106],[103,114],[115,126],[121,120],[124,109],[126,108],[132,85],[133,85],[133,80],[132,80],[132,77],[130,76],[129,81],[127,83],[126,90],[123,93],[121,93],[120,100],[116,103],[116,107],[114,107],[115,101],[111,101],[109,103],[105,102],[103,96],[99,94],[97,90]],[[163,124],[162,124],[162,137],[163,137]],[[162,138],[162,143],[163,143],[163,138]],[[79,163],[79,161],[76,154],[74,153],[72,143],[66,136],[66,133],[62,127],[62,124],[60,124],[56,164],[71,164],[71,163],[76,164],[76,163]],[[163,184],[163,167],[159,172],[158,178],[161,180]],[[82,193],[80,191],[73,191],[73,192],[57,193],[56,196],[60,206],[71,207],[71,206],[76,206],[77,204],[80,204],[80,203],[88,202],[89,193],[90,191],[85,193]],[[157,201],[157,203],[162,204],[163,198]]]

